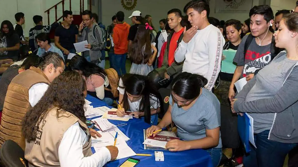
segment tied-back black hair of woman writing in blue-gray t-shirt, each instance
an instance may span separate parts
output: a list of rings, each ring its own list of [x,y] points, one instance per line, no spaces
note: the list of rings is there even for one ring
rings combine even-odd
[[[171,90],[185,100],[191,100],[200,95],[201,88],[208,80],[201,75],[183,72],[174,78]]]

